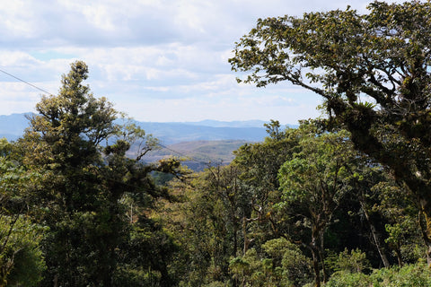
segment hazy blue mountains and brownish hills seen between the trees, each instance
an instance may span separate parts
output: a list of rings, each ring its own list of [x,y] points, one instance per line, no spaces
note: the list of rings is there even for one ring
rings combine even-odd
[[[27,116],[31,116],[31,113],[0,116],[0,138],[14,141],[21,137],[29,126]],[[184,164],[192,170],[203,170],[209,164],[228,164],[233,160],[233,151],[242,144],[261,142],[267,136],[263,126],[265,122],[261,120],[135,123],[162,143],[160,150],[145,156],[145,161],[154,162],[169,156],[187,158]]]

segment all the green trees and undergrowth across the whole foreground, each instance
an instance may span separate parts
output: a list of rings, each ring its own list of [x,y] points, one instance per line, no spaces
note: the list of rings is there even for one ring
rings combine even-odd
[[[199,173],[145,163],[157,140],[73,63],[0,141],[0,286],[429,286],[431,4],[369,9],[259,20],[233,69],[328,117]]]

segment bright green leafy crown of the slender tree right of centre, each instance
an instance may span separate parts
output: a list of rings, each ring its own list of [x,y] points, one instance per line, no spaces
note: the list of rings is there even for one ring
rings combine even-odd
[[[313,128],[312,126],[305,128]],[[351,143],[346,133],[304,135],[300,151],[286,161],[279,171],[280,188],[286,202],[299,202],[319,206],[315,193],[330,192],[330,200],[338,204],[346,192],[343,178],[347,177],[347,164],[352,161]]]

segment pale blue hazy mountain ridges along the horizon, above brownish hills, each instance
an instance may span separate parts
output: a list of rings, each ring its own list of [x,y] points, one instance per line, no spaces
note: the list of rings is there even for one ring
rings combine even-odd
[[[12,114],[9,116],[0,116],[0,137],[6,137],[8,140],[16,140],[22,136],[29,121],[24,114]],[[156,123],[156,122],[139,122],[136,125],[141,126],[147,134],[152,134],[158,138],[161,143],[173,144],[192,141],[219,141],[219,140],[242,140],[246,142],[260,142],[267,135],[263,126],[264,121],[216,121],[203,120],[200,122],[184,123]]]

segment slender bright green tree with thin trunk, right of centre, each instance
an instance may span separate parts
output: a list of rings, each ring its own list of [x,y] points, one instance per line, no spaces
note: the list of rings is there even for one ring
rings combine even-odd
[[[315,134],[313,126],[302,126],[310,134],[303,136],[295,153],[279,170],[282,202],[277,204],[295,221],[310,229],[309,242],[304,243],[312,252],[315,286],[326,281],[324,267],[324,234],[341,199],[351,187],[347,184],[347,166],[355,158],[346,133]]]

